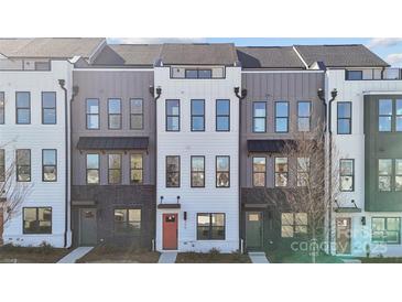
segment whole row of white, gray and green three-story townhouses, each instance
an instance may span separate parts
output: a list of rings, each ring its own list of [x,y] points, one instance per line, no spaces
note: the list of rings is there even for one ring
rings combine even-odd
[[[308,224],[271,202],[297,186],[281,145],[327,121],[332,252],[402,255],[402,74],[389,67],[363,45],[0,40],[0,182],[14,164],[28,187],[0,238],[269,249]]]

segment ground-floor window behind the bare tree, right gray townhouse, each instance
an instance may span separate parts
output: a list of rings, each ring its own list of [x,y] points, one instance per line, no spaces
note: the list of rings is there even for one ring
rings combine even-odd
[[[282,213],[282,238],[300,237],[307,234],[308,220],[306,213]]]

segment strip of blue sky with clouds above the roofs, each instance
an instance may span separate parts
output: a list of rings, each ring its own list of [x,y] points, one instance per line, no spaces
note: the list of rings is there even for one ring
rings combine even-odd
[[[395,37],[115,37],[110,43],[208,42],[238,46],[283,46],[294,44],[365,44],[392,66],[402,67],[402,39]]]

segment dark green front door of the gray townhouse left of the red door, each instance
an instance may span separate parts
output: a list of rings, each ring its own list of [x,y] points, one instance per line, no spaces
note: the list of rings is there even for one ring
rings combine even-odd
[[[79,211],[79,245],[94,246],[97,244],[96,208]]]

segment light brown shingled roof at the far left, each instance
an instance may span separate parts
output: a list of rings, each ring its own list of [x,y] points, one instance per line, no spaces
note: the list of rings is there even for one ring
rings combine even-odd
[[[7,57],[88,58],[102,37],[0,39],[0,53]]]

